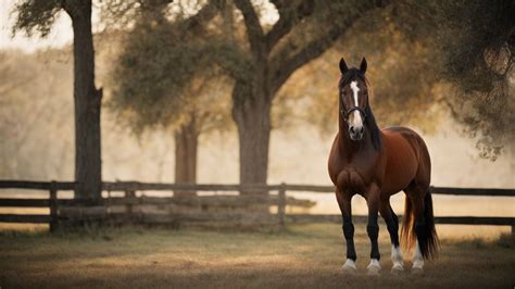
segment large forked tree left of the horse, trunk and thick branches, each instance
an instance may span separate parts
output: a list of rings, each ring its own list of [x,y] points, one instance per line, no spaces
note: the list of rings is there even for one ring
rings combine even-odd
[[[271,111],[280,87],[293,72],[319,56],[356,20],[377,7],[377,1],[272,2],[279,20],[266,32],[250,1],[235,1],[247,33],[246,41],[235,46],[244,51],[238,55],[251,72],[237,75],[233,89],[242,184],[266,183]]]

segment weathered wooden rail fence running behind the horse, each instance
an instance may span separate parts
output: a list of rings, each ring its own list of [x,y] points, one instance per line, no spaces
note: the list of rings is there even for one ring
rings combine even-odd
[[[111,222],[125,223],[127,219],[142,224],[169,224],[175,222],[224,222],[238,221],[242,223],[276,224],[284,227],[286,223],[340,223],[339,214],[287,214],[287,205],[309,208],[314,203],[309,200],[298,200],[287,197],[288,191],[298,192],[334,192],[332,186],[309,186],[309,185],[192,185],[192,184],[162,184],[162,183],[138,183],[116,181],[102,184],[102,190],[108,192],[106,198],[93,203],[91,200],[59,199],[58,191],[72,191],[74,183],[70,181],[23,181],[0,180],[0,189],[33,189],[46,190],[48,199],[8,199],[0,198],[0,208],[48,208],[50,214],[0,214],[0,222],[8,223],[42,223],[50,224],[54,229],[60,222],[110,219]],[[112,192],[125,192],[124,197],[112,197]],[[148,197],[136,196],[136,191],[180,191],[176,197]],[[210,192],[240,192],[244,194],[235,196],[198,196],[198,191]],[[269,192],[276,191],[277,194]],[[251,193],[251,192],[268,192]],[[515,197],[515,189],[479,189],[479,188],[444,188],[432,187],[434,194],[451,196],[490,196],[490,197]],[[0,191],[1,193],[1,191]],[[271,214],[263,211],[227,211],[205,210],[206,208],[247,208],[249,205],[277,206],[277,213]],[[141,208],[146,205],[168,205],[165,214],[145,212]],[[169,208],[172,205],[172,208]],[[116,211],[116,206],[124,210]],[[183,206],[180,210],[179,208]],[[185,209],[186,206],[186,209]],[[138,208],[138,210],[135,210]],[[194,208],[191,209],[191,208]],[[365,223],[366,216],[353,216],[354,222]],[[512,234],[515,233],[515,217],[487,217],[487,216],[436,216],[437,224],[457,225],[494,225],[511,226]]]

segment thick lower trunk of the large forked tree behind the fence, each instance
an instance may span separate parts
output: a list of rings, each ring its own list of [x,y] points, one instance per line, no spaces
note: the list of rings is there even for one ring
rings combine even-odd
[[[272,100],[265,89],[236,83],[233,90],[233,118],[238,127],[240,184],[266,184],[271,136]]]

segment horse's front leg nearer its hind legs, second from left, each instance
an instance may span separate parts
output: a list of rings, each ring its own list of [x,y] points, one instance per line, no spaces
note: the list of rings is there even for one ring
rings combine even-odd
[[[366,196],[366,204],[368,206],[368,223],[366,225],[366,233],[370,239],[372,244],[370,263],[366,268],[370,275],[378,275],[381,269],[381,265],[379,264],[381,255],[379,254],[379,244],[377,242],[377,238],[379,237],[379,226],[377,225],[379,194],[379,188],[377,188],[377,186],[372,186]]]

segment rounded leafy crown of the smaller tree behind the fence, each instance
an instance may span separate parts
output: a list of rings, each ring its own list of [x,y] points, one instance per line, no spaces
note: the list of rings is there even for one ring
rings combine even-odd
[[[211,117],[210,127],[227,126],[228,80],[223,67],[213,65],[213,47],[224,53],[230,53],[230,47],[209,35],[189,35],[169,22],[139,22],[123,47],[110,76],[109,106],[135,133],[176,127],[191,117]]]

